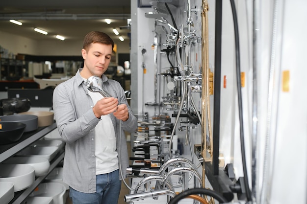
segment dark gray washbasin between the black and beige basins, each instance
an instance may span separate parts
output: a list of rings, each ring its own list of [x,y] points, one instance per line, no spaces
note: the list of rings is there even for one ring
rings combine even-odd
[[[38,117],[36,115],[4,115],[0,116],[2,122],[21,122],[26,124],[24,132],[30,132],[38,128]]]

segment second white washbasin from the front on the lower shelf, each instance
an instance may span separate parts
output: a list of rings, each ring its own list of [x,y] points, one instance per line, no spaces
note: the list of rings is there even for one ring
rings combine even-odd
[[[13,182],[14,191],[21,191],[35,181],[35,169],[28,164],[0,164],[0,181]]]

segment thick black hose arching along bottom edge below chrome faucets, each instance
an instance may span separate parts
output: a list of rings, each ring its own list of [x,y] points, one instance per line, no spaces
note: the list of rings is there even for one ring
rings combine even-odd
[[[189,195],[194,195],[194,194],[203,194],[206,196],[211,196],[214,199],[218,200],[218,202],[221,204],[228,203],[228,201],[222,195],[220,195],[219,193],[213,190],[206,189],[206,188],[192,188],[192,189],[182,191],[181,193],[176,195],[168,204],[177,204],[181,199],[184,199],[185,197]]]

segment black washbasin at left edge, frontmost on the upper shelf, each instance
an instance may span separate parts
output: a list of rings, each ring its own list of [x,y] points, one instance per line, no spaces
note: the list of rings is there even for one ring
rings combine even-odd
[[[9,144],[18,141],[24,134],[25,123],[0,122],[0,144]]]

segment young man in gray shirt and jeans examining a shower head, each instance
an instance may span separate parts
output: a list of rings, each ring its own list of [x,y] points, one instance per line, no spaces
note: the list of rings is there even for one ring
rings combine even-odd
[[[53,91],[55,121],[66,142],[62,177],[70,186],[73,204],[117,204],[121,189],[119,159],[126,175],[128,151],[124,130],[134,132],[137,119],[120,83],[104,75],[113,47],[114,42],[107,34],[89,32],[81,50],[83,68]],[[103,89],[113,97],[104,98],[99,92],[88,91],[85,81],[94,75],[102,79]]]

